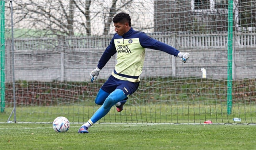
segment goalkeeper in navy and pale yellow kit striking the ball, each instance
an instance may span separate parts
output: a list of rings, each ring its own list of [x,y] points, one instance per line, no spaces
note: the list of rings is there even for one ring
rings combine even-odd
[[[189,58],[187,52],[180,52],[144,32],[133,30],[129,14],[118,13],[112,21],[116,34],[103,52],[96,69],[90,73],[90,81],[95,82],[101,69],[116,53],[117,63],[96,96],[95,103],[101,107],[80,127],[78,133],[88,133],[88,128],[108,114],[112,106],[115,105],[118,112],[123,110],[128,97],[139,87],[146,48],[161,50],[178,57],[184,63]]]

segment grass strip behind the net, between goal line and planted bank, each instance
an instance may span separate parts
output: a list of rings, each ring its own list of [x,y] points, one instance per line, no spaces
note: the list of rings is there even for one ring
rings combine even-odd
[[[51,123],[58,116],[65,116],[71,123],[87,122],[99,108],[98,105],[86,106],[52,106],[52,107],[16,107],[16,122],[47,122]],[[13,108],[6,108],[0,113],[0,122],[6,122]],[[233,104],[232,114],[227,115],[224,104],[154,104],[130,105],[119,113],[115,107],[99,120],[98,123],[203,123],[211,120],[213,123],[256,123],[256,105]],[[241,122],[234,122],[232,118],[241,118]],[[14,115],[10,118],[14,121]]]

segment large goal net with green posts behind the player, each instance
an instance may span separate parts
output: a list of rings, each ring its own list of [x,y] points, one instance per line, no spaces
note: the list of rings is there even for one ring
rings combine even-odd
[[[87,122],[116,56],[94,84],[89,74],[113,16],[126,12],[134,30],[190,58],[146,49],[139,89],[97,123],[254,124],[255,9],[253,0],[1,1],[0,122]]]

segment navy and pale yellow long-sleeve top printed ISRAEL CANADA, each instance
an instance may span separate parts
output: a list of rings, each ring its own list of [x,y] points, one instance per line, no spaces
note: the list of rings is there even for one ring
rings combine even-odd
[[[111,75],[120,80],[138,82],[144,64],[145,48],[161,50],[176,57],[180,52],[172,46],[151,38],[144,32],[131,28],[123,36],[117,33],[113,36],[99,60],[98,68],[102,69],[111,56],[117,53],[117,63]]]

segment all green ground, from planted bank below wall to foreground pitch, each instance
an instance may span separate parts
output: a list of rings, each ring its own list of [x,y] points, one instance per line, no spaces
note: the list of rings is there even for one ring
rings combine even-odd
[[[77,130],[99,108],[94,104],[94,97],[101,84],[96,86],[70,83],[63,84],[63,87],[52,84],[49,88],[45,88],[43,84],[43,88],[38,89],[35,87],[41,86],[35,83],[31,84],[33,86],[26,83],[20,84],[17,91],[23,91],[23,94],[22,97],[17,95],[16,98],[21,100],[18,98],[25,97],[25,99],[19,101],[16,108],[18,123],[0,123],[0,149],[255,149],[255,125],[230,124],[239,123],[232,121],[234,117],[241,118],[241,123],[256,123],[254,83],[255,80],[234,83],[236,85],[234,87],[237,88],[233,89],[232,114],[227,115],[226,81],[191,79],[184,80],[184,84],[159,80],[141,82],[141,88],[129,98],[124,110],[118,113],[113,107],[97,122],[99,124],[89,129],[90,134],[78,134]],[[84,92],[83,87],[88,88],[92,93]],[[65,90],[61,90],[62,88]],[[12,91],[11,88],[8,89],[10,89],[9,92]],[[24,91],[25,89],[27,91]],[[38,95],[30,94],[30,89]],[[52,101],[55,100],[52,97],[54,92],[49,89],[59,89],[64,98],[56,95],[63,103],[52,105]],[[73,94],[73,91],[77,94]],[[85,94],[84,98],[80,98],[83,94]],[[12,95],[12,93],[6,92],[6,95]],[[40,97],[42,95],[46,97]],[[67,103],[70,95],[72,95],[71,102]],[[6,101],[5,111],[0,114],[0,122],[6,122],[13,110],[11,97],[9,99],[10,101]],[[67,133],[53,131],[51,122],[57,116],[65,116],[71,122]],[[11,121],[14,121],[13,118],[14,115]],[[211,120],[214,124],[203,124],[206,120]],[[40,124],[40,122],[47,123]],[[219,125],[218,123],[228,124]]]

